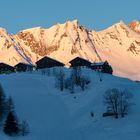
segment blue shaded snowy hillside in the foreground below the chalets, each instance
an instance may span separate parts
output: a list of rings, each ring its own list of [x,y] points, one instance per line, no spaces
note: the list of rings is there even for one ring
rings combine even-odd
[[[66,71],[68,74],[69,70]],[[4,140],[139,140],[140,139],[140,85],[139,83],[83,70],[91,79],[86,91],[70,94],[55,88],[53,76],[39,73],[1,75],[1,83],[7,95],[14,99],[17,115],[26,119],[31,133],[26,137],[9,138],[0,132]],[[123,119],[102,118],[105,111],[103,94],[108,88],[127,88],[134,94],[132,107]],[[76,98],[74,98],[76,97]],[[94,112],[94,118],[90,112]]]

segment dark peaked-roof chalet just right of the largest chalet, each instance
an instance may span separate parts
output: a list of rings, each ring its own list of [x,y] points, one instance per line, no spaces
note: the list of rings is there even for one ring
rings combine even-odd
[[[80,57],[74,58],[69,63],[71,64],[71,67],[79,67],[79,66],[90,67],[90,65],[91,65],[91,62],[89,62],[86,59],[80,58]]]

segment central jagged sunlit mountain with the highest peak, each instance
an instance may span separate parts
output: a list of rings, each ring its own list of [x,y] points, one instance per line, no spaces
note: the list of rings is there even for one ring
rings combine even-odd
[[[77,20],[57,24],[49,29],[37,27],[24,30],[17,33],[16,37],[29,46],[32,52],[40,56],[48,55],[65,64],[77,56],[101,61],[89,32],[86,27],[79,26]]]

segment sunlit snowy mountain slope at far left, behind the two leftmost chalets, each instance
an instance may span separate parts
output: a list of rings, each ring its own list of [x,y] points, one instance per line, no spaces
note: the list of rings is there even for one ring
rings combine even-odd
[[[0,62],[16,65],[19,62],[33,64],[34,54],[29,47],[19,42],[16,36],[0,28]]]

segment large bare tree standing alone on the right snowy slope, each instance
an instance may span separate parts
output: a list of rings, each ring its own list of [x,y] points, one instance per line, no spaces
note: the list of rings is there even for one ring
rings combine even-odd
[[[108,89],[104,94],[104,103],[107,105],[107,112],[112,113],[115,118],[118,115],[124,117],[128,113],[130,107],[129,100],[132,98],[132,94],[127,90],[119,90],[116,88]]]

